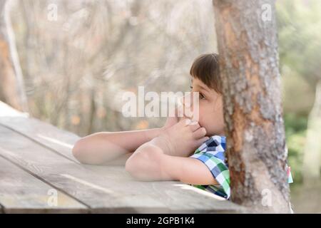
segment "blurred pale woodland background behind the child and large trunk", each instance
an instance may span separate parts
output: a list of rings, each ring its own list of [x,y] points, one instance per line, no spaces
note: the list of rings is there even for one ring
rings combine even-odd
[[[276,7],[292,204],[321,212],[321,1]],[[29,113],[80,136],[161,127],[124,118],[121,94],[188,91],[193,59],[217,52],[211,0],[11,1],[9,21]]]

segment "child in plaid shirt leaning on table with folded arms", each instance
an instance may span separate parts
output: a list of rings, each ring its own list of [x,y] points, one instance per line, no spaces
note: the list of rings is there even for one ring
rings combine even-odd
[[[81,138],[73,155],[91,165],[125,164],[138,180],[178,180],[220,197],[230,197],[225,162],[223,95],[218,55],[199,56],[190,68],[192,92],[198,92],[198,123],[168,118],[162,128],[95,133]],[[185,103],[183,102],[183,105]],[[193,109],[193,103],[190,104]]]

